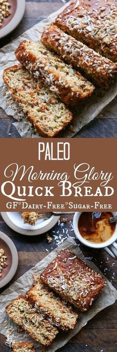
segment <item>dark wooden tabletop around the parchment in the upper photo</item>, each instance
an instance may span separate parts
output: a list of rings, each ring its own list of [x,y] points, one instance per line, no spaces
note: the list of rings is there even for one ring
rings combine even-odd
[[[65,0],[26,0],[26,9],[21,23],[9,36],[0,40],[0,47],[8,44],[52,12],[57,11],[64,2]],[[15,120],[0,109],[0,138],[20,138],[12,122]],[[117,97],[75,137],[117,137]]]

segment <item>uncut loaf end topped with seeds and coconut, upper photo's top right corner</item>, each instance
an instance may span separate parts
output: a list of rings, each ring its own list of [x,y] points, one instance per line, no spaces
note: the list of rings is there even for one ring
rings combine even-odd
[[[74,0],[58,15],[55,24],[117,62],[116,18],[117,3],[113,0]]]

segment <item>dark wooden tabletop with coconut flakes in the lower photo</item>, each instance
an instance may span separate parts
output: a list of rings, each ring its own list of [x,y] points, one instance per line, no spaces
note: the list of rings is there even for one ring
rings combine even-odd
[[[60,218],[60,224],[62,219],[63,216]],[[64,224],[64,229],[68,230],[69,236],[74,237],[74,232],[72,230],[72,219],[73,215],[67,215],[67,222]],[[49,235],[53,238],[53,235],[55,235],[55,232],[58,230],[59,234],[62,235],[62,238],[65,238],[66,234],[63,234],[63,228],[60,225],[58,226],[58,224],[55,226],[55,228],[49,231]],[[57,247],[57,243],[54,241],[54,238],[51,244],[48,244],[46,234],[36,237],[27,237],[15,233],[4,223],[1,216],[0,231],[4,232],[11,238],[17,248],[19,256],[18,269],[10,284]],[[104,250],[89,250],[88,247],[84,247],[83,245],[80,245],[80,248],[85,257],[90,257],[90,260],[92,260],[98,267],[100,267],[104,274],[106,273],[106,277],[109,280],[112,280],[113,285],[116,287],[117,262],[109,257],[104,252]],[[2,291],[3,290],[0,290],[0,293]],[[85,326],[76,336],[74,336],[74,338],[69,341],[66,346],[58,350],[58,352],[116,352],[116,308],[117,304],[115,303],[114,305],[104,309],[102,312],[97,314],[92,320],[90,320],[90,322],[88,322],[87,326]],[[9,351],[9,349],[4,345],[4,341],[4,337],[0,335],[0,352]]]

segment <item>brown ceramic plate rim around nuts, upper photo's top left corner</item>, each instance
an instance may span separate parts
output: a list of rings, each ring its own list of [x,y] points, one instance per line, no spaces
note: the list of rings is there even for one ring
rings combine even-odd
[[[24,10],[25,10],[25,0],[8,0],[11,4],[10,11],[11,14],[4,18],[2,27],[0,28],[0,39],[5,37],[7,34],[12,32],[13,29],[17,27],[20,23]]]

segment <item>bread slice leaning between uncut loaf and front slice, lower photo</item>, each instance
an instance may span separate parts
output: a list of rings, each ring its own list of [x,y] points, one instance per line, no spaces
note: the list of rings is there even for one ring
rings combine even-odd
[[[72,307],[67,306],[48,286],[43,284],[40,278],[26,293],[26,298],[53,325],[65,331],[74,329],[78,315]]]

